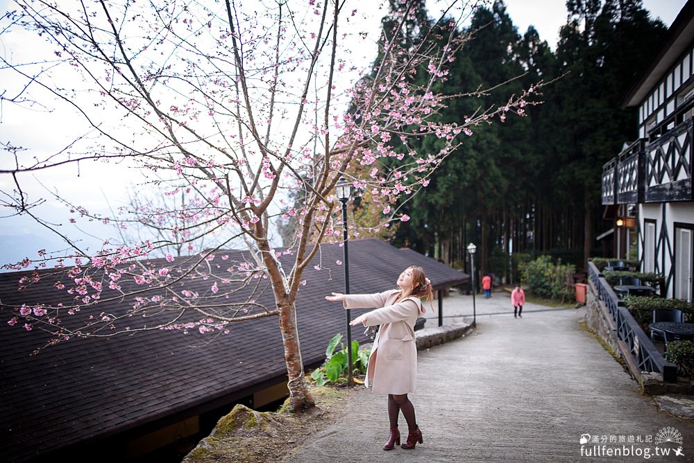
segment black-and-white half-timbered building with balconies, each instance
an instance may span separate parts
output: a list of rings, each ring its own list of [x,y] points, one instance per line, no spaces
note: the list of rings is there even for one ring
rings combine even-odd
[[[602,204],[619,258],[638,256],[663,274],[666,297],[692,299],[694,275],[694,0],[625,97],[638,109],[638,139],[604,164]]]

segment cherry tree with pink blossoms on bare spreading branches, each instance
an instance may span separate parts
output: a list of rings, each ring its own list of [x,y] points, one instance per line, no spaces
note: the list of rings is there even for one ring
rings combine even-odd
[[[176,201],[141,201],[126,213],[107,214],[64,199],[70,220],[120,228],[145,221],[164,233],[138,243],[115,236],[86,252],[56,228],[70,252],[58,261],[42,253],[13,268],[37,269],[22,279],[22,288],[54,279],[71,302],[15,307],[10,324],[49,331],[51,342],[62,342],[143,329],[223,335],[228,324],[277,316],[294,410],[313,403],[298,344],[296,295],[321,243],[341,239],[334,232],[342,228],[334,193],[339,177],[378,204],[372,231],[406,221],[398,204],[428,184],[441,160],[475,126],[522,115],[542,85],[462,114],[459,123],[437,122],[448,98],[475,98],[488,89],[437,93],[466,40],[464,16],[444,8],[439,21],[420,31],[419,44],[398,40],[420,1],[393,2],[397,8],[384,21],[390,30],[370,42],[360,31],[356,1],[65,3],[17,0],[3,18],[3,35],[21,30],[51,47],[49,59],[3,55],[3,70],[19,82],[3,91],[3,99],[49,105],[33,96],[47,92],[69,105],[90,132],[45,155],[2,140],[11,162],[0,172],[12,177],[3,206],[33,214],[26,175],[89,161],[134,166],[149,173],[143,191]],[[353,49],[374,42],[376,64],[355,67]],[[421,137],[436,137],[443,148],[407,148]],[[289,193],[299,199],[287,202]],[[296,234],[279,249],[274,224],[290,217]],[[197,248],[201,238],[204,249]],[[182,243],[187,255],[171,254]],[[238,243],[247,247],[246,257],[228,259],[225,250]],[[263,288],[273,293],[274,306],[257,303]],[[105,301],[128,308],[105,313]],[[142,316],[149,324],[137,325]]]

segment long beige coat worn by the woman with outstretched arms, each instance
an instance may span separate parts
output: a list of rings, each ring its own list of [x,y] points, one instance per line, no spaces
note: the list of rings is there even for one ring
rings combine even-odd
[[[373,340],[369,367],[366,368],[366,387],[378,394],[408,394],[414,392],[417,378],[417,348],[414,344],[414,324],[422,313],[418,297],[407,297],[394,304],[399,290],[369,295],[345,295],[345,308],[380,307],[367,312],[366,326],[381,325]]]

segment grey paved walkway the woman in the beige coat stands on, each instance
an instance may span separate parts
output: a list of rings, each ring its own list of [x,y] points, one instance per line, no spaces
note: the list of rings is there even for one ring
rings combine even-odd
[[[476,302],[475,333],[419,353],[418,390],[410,399],[423,445],[382,451],[387,399],[357,389],[344,417],[285,461],[694,461],[694,423],[660,411],[638,393],[634,380],[582,330],[585,308],[527,304],[523,318],[514,319],[508,293]],[[460,321],[472,313],[471,297],[447,298],[443,311],[453,315],[446,324]],[[437,324],[432,317],[428,324]],[[400,428],[407,430],[403,417]],[[681,435],[684,455],[675,456],[679,445],[672,442],[658,446],[670,456],[656,455],[659,433],[667,431]],[[607,442],[582,446],[584,434]],[[617,450],[626,455],[625,449],[637,455],[605,456]]]

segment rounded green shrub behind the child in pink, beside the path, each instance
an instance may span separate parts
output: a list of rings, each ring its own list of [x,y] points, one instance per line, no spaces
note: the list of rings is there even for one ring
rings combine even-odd
[[[573,297],[573,274],[575,266],[552,262],[550,256],[539,256],[521,266],[521,281],[532,295],[546,299],[568,299]]]

